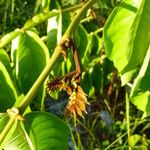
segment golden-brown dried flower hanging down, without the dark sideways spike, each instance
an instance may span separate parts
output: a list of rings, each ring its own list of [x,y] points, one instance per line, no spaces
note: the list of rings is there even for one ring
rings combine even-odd
[[[83,113],[87,113],[86,104],[89,104],[87,101],[86,94],[84,93],[82,88],[78,85],[76,90],[74,90],[70,95],[69,102],[65,110],[66,116],[70,116],[71,114],[73,114],[75,126],[76,126],[77,115],[84,118]]]

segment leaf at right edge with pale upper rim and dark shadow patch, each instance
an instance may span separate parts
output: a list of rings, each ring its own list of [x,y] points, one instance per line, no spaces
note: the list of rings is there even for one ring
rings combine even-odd
[[[131,101],[138,109],[150,115],[150,48],[147,51],[143,65],[140,69],[139,75],[134,81],[131,89]]]

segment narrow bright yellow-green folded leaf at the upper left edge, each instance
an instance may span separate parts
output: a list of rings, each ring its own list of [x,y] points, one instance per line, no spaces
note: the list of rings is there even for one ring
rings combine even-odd
[[[20,29],[15,29],[14,31],[4,35],[0,39],[0,48],[4,47],[8,43],[10,43],[15,37],[17,37],[19,35],[20,32],[21,32]]]

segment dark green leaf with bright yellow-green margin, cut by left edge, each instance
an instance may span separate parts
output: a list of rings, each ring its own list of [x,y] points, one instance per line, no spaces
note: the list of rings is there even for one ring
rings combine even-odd
[[[0,112],[12,107],[16,98],[15,86],[5,66],[0,62]]]

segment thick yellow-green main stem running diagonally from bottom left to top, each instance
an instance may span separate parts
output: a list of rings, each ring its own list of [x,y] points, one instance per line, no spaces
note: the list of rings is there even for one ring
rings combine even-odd
[[[55,48],[55,51],[49,60],[49,63],[46,65],[44,70],[42,71],[41,75],[38,77],[37,81],[33,84],[27,95],[23,98],[21,104],[17,107],[19,109],[19,113],[23,114],[26,108],[30,105],[30,103],[33,100],[33,97],[36,95],[38,89],[40,88],[41,84],[44,82],[44,80],[47,78],[49,72],[52,70],[54,64],[56,63],[57,59],[61,55],[62,51],[64,51],[63,45],[65,44],[66,40],[71,39],[72,33],[74,29],[79,24],[82,15],[85,13],[85,11],[92,6],[92,4],[96,0],[89,0],[79,11],[79,13],[75,16],[75,18],[72,20],[71,24],[69,25],[68,29],[66,30],[65,34],[63,35],[60,44]],[[0,135],[0,144],[3,142],[4,138],[6,137],[7,133],[11,129],[12,125],[15,122],[15,118],[11,117],[1,132]]]

